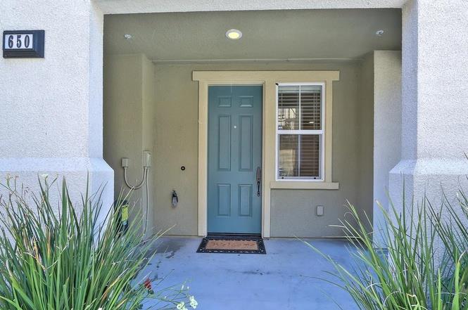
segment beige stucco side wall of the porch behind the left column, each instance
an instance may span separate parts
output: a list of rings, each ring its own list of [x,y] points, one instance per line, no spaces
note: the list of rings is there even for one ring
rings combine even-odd
[[[130,160],[127,179],[135,185],[142,176],[143,150],[153,153],[154,79],[154,65],[144,55],[107,56],[104,62],[103,157],[115,172],[115,198],[118,198],[120,190],[129,190],[123,180],[122,157]],[[151,186],[153,169],[148,179]],[[145,190],[142,187],[132,195],[131,220],[137,214],[144,216]],[[152,190],[149,193],[149,209],[153,209]],[[151,218],[150,227],[153,226]]]

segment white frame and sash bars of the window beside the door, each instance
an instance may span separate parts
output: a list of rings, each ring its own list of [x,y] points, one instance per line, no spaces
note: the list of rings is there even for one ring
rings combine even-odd
[[[281,134],[307,134],[307,135],[320,135],[320,179],[309,179],[309,178],[291,178],[291,179],[282,179],[279,177],[279,132],[278,129],[278,88],[279,86],[321,86],[322,90],[320,93],[320,97],[322,98],[320,103],[320,117],[321,117],[321,130],[281,130]],[[276,103],[275,103],[275,153],[274,153],[274,162],[275,162],[275,179],[277,182],[324,182],[325,181],[325,107],[327,106],[325,103],[326,97],[326,90],[325,90],[325,83],[322,82],[310,82],[310,83],[277,83],[275,87],[275,96],[276,96]],[[301,94],[299,94],[301,96]],[[301,99],[299,99],[301,100]],[[301,122],[301,111],[299,112],[299,122]]]

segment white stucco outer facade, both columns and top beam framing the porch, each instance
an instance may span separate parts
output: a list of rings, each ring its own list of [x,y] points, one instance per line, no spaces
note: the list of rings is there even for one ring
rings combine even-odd
[[[106,13],[210,10],[210,1],[99,1]],[[295,8],[293,1],[220,1],[217,9]],[[136,4],[139,4],[137,6]],[[301,1],[301,8],[404,6],[403,10],[403,160],[393,170],[391,192],[401,193],[401,174],[409,190],[451,197],[467,174],[466,109],[467,12],[464,0]],[[122,4],[122,5],[118,5]],[[120,11],[119,11],[120,10]],[[102,14],[92,1],[0,2],[4,29],[45,29],[46,58],[0,60],[1,173],[34,181],[37,172],[75,178],[82,185],[111,180],[101,159]],[[60,16],[61,18],[56,18]],[[34,17],[34,18],[32,18]],[[68,44],[63,38],[73,37]],[[440,70],[441,67],[449,70]],[[33,72],[33,74],[31,74]],[[27,77],[27,78],[25,78]],[[442,86],[441,86],[442,85]],[[34,94],[34,98],[28,96]],[[445,100],[439,98],[445,96]],[[434,115],[438,115],[436,119]],[[449,125],[446,125],[449,124]],[[21,130],[18,130],[21,129]],[[434,139],[436,136],[438,138]],[[26,142],[27,141],[27,142]],[[447,142],[448,141],[448,142]],[[414,177],[417,176],[417,177]],[[393,184],[393,188],[392,188]],[[110,190],[112,191],[112,190]]]

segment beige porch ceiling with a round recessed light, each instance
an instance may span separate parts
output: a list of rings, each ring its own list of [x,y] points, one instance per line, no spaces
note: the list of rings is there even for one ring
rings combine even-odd
[[[226,39],[232,28],[240,40]],[[105,53],[154,61],[348,59],[400,49],[400,9],[146,13],[104,22]]]

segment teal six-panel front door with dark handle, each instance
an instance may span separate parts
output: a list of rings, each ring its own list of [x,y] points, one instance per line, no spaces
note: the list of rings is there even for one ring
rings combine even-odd
[[[208,233],[260,233],[262,86],[208,89]]]

